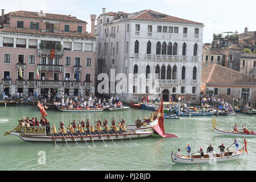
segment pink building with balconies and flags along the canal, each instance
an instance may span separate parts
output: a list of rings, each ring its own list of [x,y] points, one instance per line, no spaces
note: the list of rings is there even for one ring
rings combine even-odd
[[[91,15],[93,24],[95,18]],[[86,24],[71,15],[2,10],[1,91],[94,94],[96,38]]]

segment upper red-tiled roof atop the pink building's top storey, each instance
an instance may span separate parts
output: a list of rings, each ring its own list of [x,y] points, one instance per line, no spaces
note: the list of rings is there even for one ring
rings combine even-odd
[[[36,18],[36,19],[48,19],[48,20],[61,20],[66,22],[86,23],[83,20],[77,19],[75,16],[39,13],[34,11],[14,11],[10,12],[9,16],[21,17],[21,18]]]

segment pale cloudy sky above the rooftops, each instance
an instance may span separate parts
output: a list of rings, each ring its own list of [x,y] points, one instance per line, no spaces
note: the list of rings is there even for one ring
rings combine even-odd
[[[76,16],[88,22],[88,32],[91,26],[90,14],[100,15],[103,7],[106,12],[126,13],[150,9],[203,23],[203,43],[211,43],[213,33],[242,33],[245,27],[249,31],[256,31],[255,0],[1,0],[0,7],[5,9],[5,13],[43,10],[44,13]]]

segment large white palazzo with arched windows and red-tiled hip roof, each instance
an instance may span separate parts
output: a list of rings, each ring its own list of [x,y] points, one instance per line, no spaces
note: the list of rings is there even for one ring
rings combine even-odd
[[[133,74],[127,81],[133,83],[127,86],[132,92],[119,94],[125,101],[142,101],[144,95],[152,100],[162,93],[166,101],[170,96],[199,101],[203,26],[152,10],[105,13],[102,9],[95,29],[96,72],[110,76],[114,69],[115,75],[125,73],[127,78]],[[142,82],[146,88],[141,88]],[[150,93],[149,87],[156,85],[158,92]]]

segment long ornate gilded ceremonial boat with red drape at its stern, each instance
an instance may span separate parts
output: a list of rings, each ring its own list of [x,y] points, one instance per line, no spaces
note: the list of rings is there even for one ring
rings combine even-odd
[[[163,102],[162,102],[163,104]],[[161,109],[162,108],[162,109]],[[43,110],[43,109],[42,109]],[[47,113],[42,112],[44,115]],[[45,126],[27,127],[25,126],[24,119],[18,122],[18,126],[14,127],[13,130],[6,131],[4,135],[15,135],[24,141],[31,142],[82,142],[82,141],[94,141],[94,140],[113,140],[113,139],[129,139],[129,138],[141,138],[149,137],[152,134],[159,134],[163,138],[177,137],[174,134],[167,134],[164,131],[164,118],[163,118],[163,105],[160,106],[159,110],[153,113],[151,119],[145,119],[141,123],[134,125],[127,125],[126,131],[121,133],[108,133],[103,132],[102,134],[92,134],[89,131],[84,135],[81,135],[79,131],[72,135],[67,133],[68,136],[62,136],[61,133],[57,133],[55,137],[53,133],[46,134],[47,128]]]

